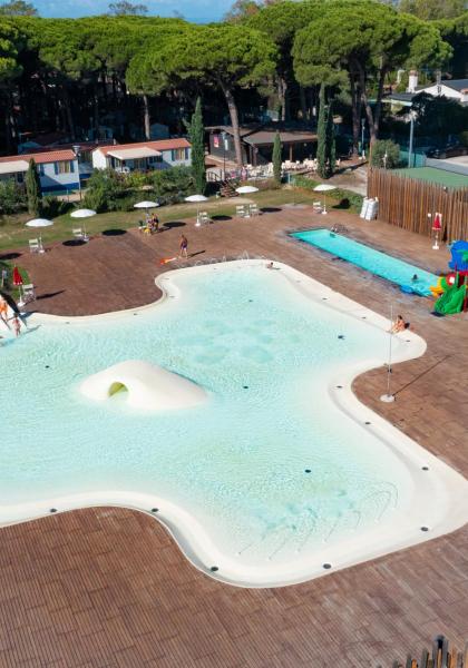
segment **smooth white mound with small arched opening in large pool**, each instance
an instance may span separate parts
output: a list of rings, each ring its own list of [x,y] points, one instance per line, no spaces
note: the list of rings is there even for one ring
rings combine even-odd
[[[207,401],[205,390],[193,381],[143,360],[114,364],[80,385],[80,391],[95,401],[105,401],[120,390],[128,392],[130,406],[146,411],[189,409]]]

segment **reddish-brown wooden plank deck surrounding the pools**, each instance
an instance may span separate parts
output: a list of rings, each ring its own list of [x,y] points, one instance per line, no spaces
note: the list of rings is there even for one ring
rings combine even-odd
[[[467,314],[435,318],[428,299],[285,230],[341,223],[355,238],[435,272],[447,266],[445,250],[340,212],[325,218],[284,208],[199,229],[185,223],[149,238],[129,232],[22,256],[37,307],[74,315],[154,301],[158,261],[175,254],[181,230],[197,253],[189,263],[244,250],[282,259],[374,311],[388,314],[393,304],[411,321],[428,352],[394,367],[396,403],[378,400],[381,370],[360,376],[355,392],[468,477]],[[205,577],[153,518],[123,509],[51,515],[4,528],[0,538],[1,668],[390,668],[438,633],[458,647],[468,640],[468,527],[312,582],[263,590]]]

